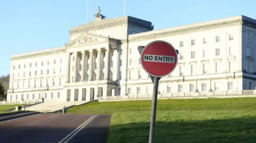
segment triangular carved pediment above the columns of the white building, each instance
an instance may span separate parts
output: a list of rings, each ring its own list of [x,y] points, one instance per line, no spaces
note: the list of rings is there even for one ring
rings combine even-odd
[[[66,44],[66,47],[73,47],[78,45],[84,44],[92,44],[92,43],[99,43],[102,41],[108,41],[109,38],[101,35],[94,35],[92,33],[86,33],[85,35],[76,38],[75,40],[71,41],[70,43]]]

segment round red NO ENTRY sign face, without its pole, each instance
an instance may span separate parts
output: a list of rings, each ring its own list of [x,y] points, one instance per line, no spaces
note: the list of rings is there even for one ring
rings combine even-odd
[[[143,48],[140,59],[142,68],[153,77],[165,77],[178,63],[175,48],[162,40],[152,41]]]

